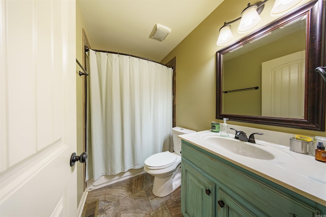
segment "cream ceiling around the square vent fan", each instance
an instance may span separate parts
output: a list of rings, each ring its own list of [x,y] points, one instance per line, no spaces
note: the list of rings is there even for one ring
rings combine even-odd
[[[160,61],[223,0],[77,0],[77,2],[85,19],[92,49]],[[156,23],[172,29],[165,41],[160,42],[149,37]]]

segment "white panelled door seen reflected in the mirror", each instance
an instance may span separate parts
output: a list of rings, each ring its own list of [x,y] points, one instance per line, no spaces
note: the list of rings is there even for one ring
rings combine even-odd
[[[303,50],[262,63],[262,116],[304,118],[305,55]]]

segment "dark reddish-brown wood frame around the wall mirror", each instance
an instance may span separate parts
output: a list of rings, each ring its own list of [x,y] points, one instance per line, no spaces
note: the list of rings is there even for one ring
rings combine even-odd
[[[222,113],[222,63],[223,55],[244,43],[254,40],[261,35],[271,32],[281,24],[289,22],[295,17],[307,13],[307,39],[306,39],[306,82],[305,82],[305,118],[291,119],[265,116],[248,116]],[[325,66],[325,26],[326,1],[312,1],[296,9],[293,13],[256,30],[254,33],[234,42],[233,44],[216,52],[216,119],[224,117],[230,120],[259,123],[289,128],[299,128],[313,131],[325,131],[326,112],[326,82],[319,73],[315,72],[318,66]]]

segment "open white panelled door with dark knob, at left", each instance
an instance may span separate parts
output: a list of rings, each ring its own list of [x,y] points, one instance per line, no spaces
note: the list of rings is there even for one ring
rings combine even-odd
[[[0,2],[0,216],[76,216],[75,1]]]

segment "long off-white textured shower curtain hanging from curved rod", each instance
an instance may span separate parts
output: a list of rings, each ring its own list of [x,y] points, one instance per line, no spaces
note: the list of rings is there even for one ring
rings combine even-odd
[[[89,53],[86,179],[144,166],[172,138],[173,69],[128,55]]]

